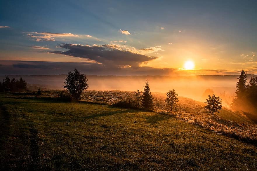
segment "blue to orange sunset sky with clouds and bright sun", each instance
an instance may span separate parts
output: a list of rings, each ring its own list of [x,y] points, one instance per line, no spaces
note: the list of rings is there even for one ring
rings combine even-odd
[[[0,75],[257,73],[257,1],[0,1]]]

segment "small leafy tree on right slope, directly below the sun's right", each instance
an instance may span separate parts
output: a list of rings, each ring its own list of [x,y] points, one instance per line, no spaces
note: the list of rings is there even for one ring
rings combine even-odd
[[[222,102],[221,102],[221,98],[216,97],[214,94],[212,95],[212,97],[210,95],[208,96],[209,97],[204,102],[206,103],[206,106],[204,107],[204,109],[206,109],[208,113],[212,114],[212,117],[213,117],[214,112],[220,113],[218,110],[222,109]]]

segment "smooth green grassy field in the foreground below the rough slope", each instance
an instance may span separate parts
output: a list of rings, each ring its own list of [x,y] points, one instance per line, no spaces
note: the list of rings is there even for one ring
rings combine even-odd
[[[2,94],[0,103],[0,170],[257,167],[256,146],[175,115],[44,96]]]

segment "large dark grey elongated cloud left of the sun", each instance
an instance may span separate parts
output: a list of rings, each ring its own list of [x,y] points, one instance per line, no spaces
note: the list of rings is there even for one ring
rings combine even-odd
[[[133,53],[130,50],[115,44],[109,45],[77,45],[63,44],[60,47],[68,49],[67,51],[51,51],[50,53],[63,54],[74,57],[81,57],[93,60],[105,67],[121,67],[130,65],[139,67],[140,63],[157,59],[139,53]]]

